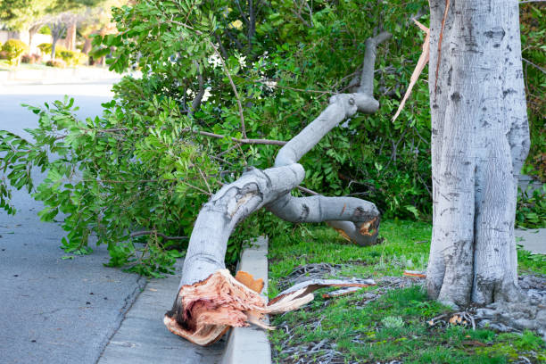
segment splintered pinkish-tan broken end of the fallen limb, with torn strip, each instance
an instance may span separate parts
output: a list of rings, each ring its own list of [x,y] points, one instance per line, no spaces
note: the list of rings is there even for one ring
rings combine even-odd
[[[239,271],[232,277],[227,269],[219,269],[194,285],[183,285],[178,292],[178,310],[168,311],[163,323],[171,333],[192,343],[215,343],[229,327],[246,327],[251,323],[273,329],[263,322],[269,313],[297,310],[311,302],[313,291],[325,286],[365,287],[375,285],[372,279],[312,279],[294,285],[267,302],[259,293],[261,279]]]

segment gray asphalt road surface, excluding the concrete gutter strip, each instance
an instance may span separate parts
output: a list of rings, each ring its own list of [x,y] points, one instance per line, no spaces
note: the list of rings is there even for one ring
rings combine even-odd
[[[0,129],[28,136],[40,105],[68,94],[79,116],[95,116],[112,97],[111,83],[0,85]],[[43,176],[42,176],[43,177]],[[37,175],[37,178],[42,178]],[[13,194],[15,216],[0,211],[0,362],[95,363],[145,279],[103,266],[106,249],[63,260],[59,224],[37,218],[41,203]],[[62,219],[62,218],[61,218]]]

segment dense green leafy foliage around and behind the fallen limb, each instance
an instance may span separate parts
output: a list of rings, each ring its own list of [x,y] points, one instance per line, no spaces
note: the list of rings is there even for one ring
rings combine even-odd
[[[381,109],[348,120],[307,153],[303,184],[322,194],[365,198],[385,218],[431,215],[425,82],[418,82],[401,117],[390,121],[423,42],[409,14],[426,13],[426,1],[249,4],[142,0],[114,9],[119,33],[96,36],[93,57],[112,53],[106,60],[112,70],[138,68],[143,78],[122,79],[100,117],[77,120],[67,99],[30,107],[40,120],[30,131],[34,142],[4,134],[4,150],[25,148],[2,162],[9,183],[44,201],[43,219],[65,214],[67,250],[86,251],[96,236],[108,244],[112,265],[166,271],[171,249],[186,247],[186,239],[169,236],[189,236],[209,194],[247,166],[273,164],[277,146],[234,139],[295,136],[330,95],[351,88],[364,42],[377,29],[394,35],[378,49]],[[39,186],[26,172],[32,166],[48,171]],[[0,207],[12,212],[8,180],[0,185]],[[238,227],[228,262],[269,219],[258,213]]]

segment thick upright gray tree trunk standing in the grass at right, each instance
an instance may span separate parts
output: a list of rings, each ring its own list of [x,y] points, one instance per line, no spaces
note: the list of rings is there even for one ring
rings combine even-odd
[[[451,306],[513,300],[517,180],[529,148],[517,0],[430,7],[427,291]]]

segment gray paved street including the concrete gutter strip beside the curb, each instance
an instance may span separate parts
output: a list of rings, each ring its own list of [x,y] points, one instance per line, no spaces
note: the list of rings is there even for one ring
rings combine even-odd
[[[95,116],[101,103],[110,100],[111,87],[106,81],[0,84],[0,129],[29,136],[23,129],[36,128],[37,117],[20,104],[43,105],[64,94],[75,98],[80,118]],[[39,173],[37,177],[43,178]],[[162,324],[176,294],[180,264],[178,276],[146,285],[145,278],[104,267],[104,246],[63,260],[67,254],[59,248],[64,236],[60,224],[40,222],[41,204],[26,191],[14,192],[13,201],[18,209],[14,217],[0,211],[0,363],[220,360],[225,339],[201,348],[170,334]]]

